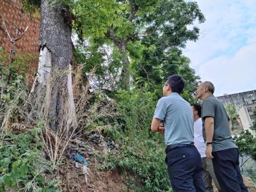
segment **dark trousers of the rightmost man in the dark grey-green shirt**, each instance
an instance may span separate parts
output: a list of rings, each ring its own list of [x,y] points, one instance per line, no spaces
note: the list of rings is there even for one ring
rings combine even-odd
[[[212,152],[214,173],[220,184],[221,192],[247,192],[239,168],[237,148]]]

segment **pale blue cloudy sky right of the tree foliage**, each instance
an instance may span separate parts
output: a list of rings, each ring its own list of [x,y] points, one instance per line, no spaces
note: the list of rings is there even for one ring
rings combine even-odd
[[[215,96],[256,90],[256,1],[196,2],[206,20],[183,51],[196,75],[214,84]]]

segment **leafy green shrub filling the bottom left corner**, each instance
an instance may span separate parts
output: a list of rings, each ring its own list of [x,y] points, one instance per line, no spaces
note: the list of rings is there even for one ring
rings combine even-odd
[[[44,158],[38,128],[28,133],[8,133],[0,147],[0,191],[56,191],[56,182],[47,181],[44,172],[51,170]]]

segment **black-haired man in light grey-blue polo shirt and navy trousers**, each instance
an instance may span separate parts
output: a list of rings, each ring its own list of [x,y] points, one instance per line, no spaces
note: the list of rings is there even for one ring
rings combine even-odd
[[[202,180],[202,160],[193,145],[193,112],[190,104],[180,97],[185,81],[173,75],[163,86],[158,100],[152,131],[163,133],[166,143],[166,163],[173,191],[205,191]],[[164,127],[160,126],[164,122]]]

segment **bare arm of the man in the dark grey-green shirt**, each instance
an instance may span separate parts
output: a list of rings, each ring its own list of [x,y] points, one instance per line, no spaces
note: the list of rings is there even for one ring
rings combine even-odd
[[[204,122],[205,129],[205,140],[208,143],[212,142],[213,131],[214,131],[214,118],[212,116],[206,116]],[[206,146],[205,155],[207,158],[212,159],[212,145],[209,144]]]

